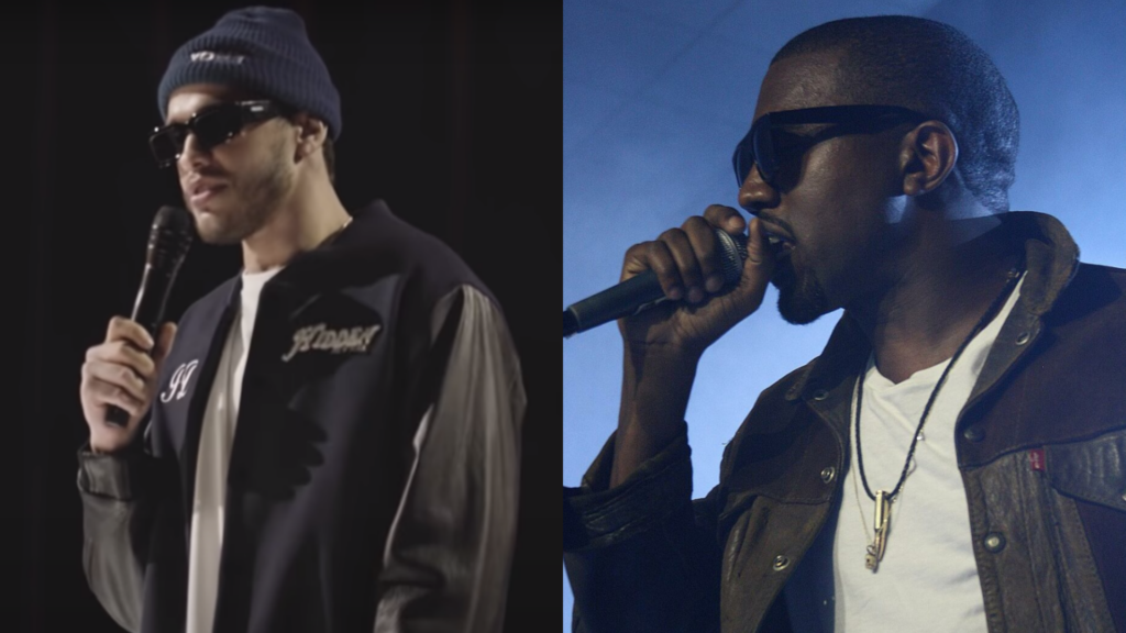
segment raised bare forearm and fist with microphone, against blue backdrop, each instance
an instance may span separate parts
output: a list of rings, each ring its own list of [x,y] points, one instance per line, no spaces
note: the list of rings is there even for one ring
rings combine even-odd
[[[745,258],[738,248],[744,239]],[[734,268],[726,274],[725,259]],[[712,205],[679,229],[629,247],[622,283],[564,312],[564,335],[620,316],[625,358],[610,487],[681,433],[700,355],[758,310],[774,266],[758,219],[747,226],[734,208]]]

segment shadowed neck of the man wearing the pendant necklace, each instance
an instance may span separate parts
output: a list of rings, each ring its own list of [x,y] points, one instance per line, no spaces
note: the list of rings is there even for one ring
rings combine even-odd
[[[989,232],[999,222],[945,221],[920,239],[915,264],[876,296],[849,306],[881,374],[899,383],[954,356],[1019,262],[1003,237]]]

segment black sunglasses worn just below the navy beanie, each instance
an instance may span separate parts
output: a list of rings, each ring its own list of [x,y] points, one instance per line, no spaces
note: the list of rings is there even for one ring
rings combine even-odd
[[[170,123],[149,136],[149,148],[160,167],[171,167],[180,158],[188,133],[205,149],[221,145],[242,132],[250,123],[280,116],[271,101],[229,101],[202,108],[187,123]]]

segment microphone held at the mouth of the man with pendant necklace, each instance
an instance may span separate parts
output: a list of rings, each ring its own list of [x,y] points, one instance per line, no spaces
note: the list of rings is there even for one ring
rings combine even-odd
[[[720,242],[724,289],[730,291],[743,274],[747,235],[731,235],[718,229],[713,230]],[[633,316],[665,301],[669,298],[661,289],[656,273],[646,270],[564,310],[563,338],[623,316]]]

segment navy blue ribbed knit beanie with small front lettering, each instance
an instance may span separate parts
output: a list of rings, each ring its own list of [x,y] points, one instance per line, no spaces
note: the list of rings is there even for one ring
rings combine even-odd
[[[181,86],[220,83],[275,99],[323,121],[340,136],[340,93],[329,69],[289,9],[248,7],[224,15],[211,30],[172,55],[157,102],[168,119],[168,99]]]

